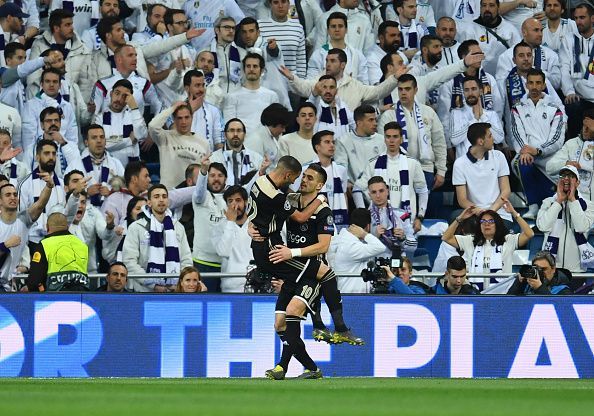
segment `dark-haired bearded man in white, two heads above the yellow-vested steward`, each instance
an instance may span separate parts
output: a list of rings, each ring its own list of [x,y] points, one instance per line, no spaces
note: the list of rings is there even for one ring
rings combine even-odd
[[[36,149],[35,143],[41,140],[47,139],[56,143],[58,146],[58,165],[55,167],[56,175],[60,178],[64,177],[64,173],[68,170],[68,167],[74,166],[80,162],[80,153],[77,146],[77,138],[74,140],[66,140],[60,131],[61,127],[61,113],[55,107],[47,107],[41,111],[39,115],[41,121],[42,134],[33,143],[28,140],[23,143],[23,147],[28,151],[23,156],[23,161],[28,167],[33,169],[37,166],[37,159],[33,159],[32,150]],[[25,136],[23,136],[24,138]],[[29,150],[30,149],[30,150]],[[37,155],[37,153],[35,153]],[[54,169],[52,169],[54,170]]]

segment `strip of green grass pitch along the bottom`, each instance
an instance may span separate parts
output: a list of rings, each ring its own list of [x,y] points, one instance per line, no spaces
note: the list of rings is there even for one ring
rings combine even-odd
[[[586,415],[594,380],[10,379],[0,415]],[[193,413],[187,413],[193,411]]]

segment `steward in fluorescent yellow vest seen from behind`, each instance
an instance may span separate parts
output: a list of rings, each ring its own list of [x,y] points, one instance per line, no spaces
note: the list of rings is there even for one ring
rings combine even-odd
[[[51,214],[47,218],[47,232],[31,256],[27,278],[29,291],[89,290],[89,248],[68,232],[66,216],[58,212]]]

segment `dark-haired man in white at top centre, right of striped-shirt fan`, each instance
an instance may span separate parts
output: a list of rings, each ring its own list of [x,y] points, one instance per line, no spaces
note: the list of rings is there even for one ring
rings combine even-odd
[[[363,55],[362,51],[353,48],[346,42],[348,30],[346,15],[341,12],[331,13],[326,22],[328,43],[325,43],[311,54],[307,65],[307,78],[317,77],[321,72],[324,72],[324,64],[326,63],[328,51],[338,48],[347,55],[347,64],[344,68],[345,73],[361,81],[363,84],[369,84],[365,55]]]

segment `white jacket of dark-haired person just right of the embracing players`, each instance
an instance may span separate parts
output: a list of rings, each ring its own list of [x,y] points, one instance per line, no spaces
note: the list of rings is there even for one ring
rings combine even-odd
[[[365,240],[355,237],[347,228],[330,241],[328,259],[332,269],[338,276],[338,289],[342,293],[369,293],[370,284],[361,277],[340,277],[341,273],[361,273],[367,262],[380,256],[386,246],[368,233]]]

